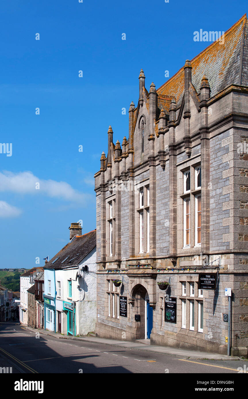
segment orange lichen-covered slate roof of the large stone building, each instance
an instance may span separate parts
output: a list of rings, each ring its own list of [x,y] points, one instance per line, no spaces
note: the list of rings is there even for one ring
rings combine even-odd
[[[211,97],[230,86],[248,86],[248,21],[246,14],[224,34],[224,44],[214,41],[190,61],[192,84],[197,92],[203,75],[208,78]],[[183,67],[157,89],[158,105],[168,112],[166,97],[175,97],[180,106],[184,94]]]

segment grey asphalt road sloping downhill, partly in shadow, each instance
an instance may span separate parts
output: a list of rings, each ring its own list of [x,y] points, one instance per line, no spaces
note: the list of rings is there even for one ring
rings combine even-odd
[[[194,360],[109,344],[64,340],[16,323],[0,323],[0,367],[13,362],[13,373],[238,373],[247,361]],[[2,364],[1,364],[2,363]]]

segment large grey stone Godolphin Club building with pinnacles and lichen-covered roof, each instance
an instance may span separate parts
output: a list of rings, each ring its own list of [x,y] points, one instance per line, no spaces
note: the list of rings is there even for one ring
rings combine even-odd
[[[97,335],[226,354],[231,288],[247,355],[246,15],[158,89],[141,69],[127,135],[95,174]]]

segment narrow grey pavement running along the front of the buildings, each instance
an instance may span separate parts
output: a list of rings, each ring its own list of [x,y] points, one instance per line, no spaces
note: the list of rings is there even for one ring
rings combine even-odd
[[[121,348],[127,349],[135,349],[135,350],[143,350],[146,352],[153,352],[159,354],[166,354],[166,355],[173,355],[173,356],[183,356],[188,359],[214,359],[214,360],[243,360],[237,356],[227,356],[227,355],[220,355],[216,353],[209,353],[209,352],[200,352],[200,351],[193,351],[188,349],[182,348],[174,348],[169,346],[157,346],[157,345],[148,345],[147,343],[143,343],[142,341],[147,340],[137,340],[136,342],[130,341],[121,341],[121,340],[113,340],[110,338],[99,338],[95,336],[65,336],[60,333],[55,333],[48,330],[38,330],[35,328],[31,328],[25,325],[25,328],[33,331],[39,332],[40,334],[45,334],[48,336],[52,336],[55,338],[65,339],[65,340],[76,340],[76,341],[84,341],[84,342],[94,342],[98,344],[109,344],[112,346],[117,346]]]

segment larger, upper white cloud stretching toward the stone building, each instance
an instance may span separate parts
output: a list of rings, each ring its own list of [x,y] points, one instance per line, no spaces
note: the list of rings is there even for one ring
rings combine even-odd
[[[36,187],[39,187],[39,189]],[[66,182],[39,179],[32,172],[0,172],[0,191],[34,195],[44,194],[48,197],[77,202],[81,205],[86,204],[89,199],[93,198],[91,194],[82,194],[74,190]]]

